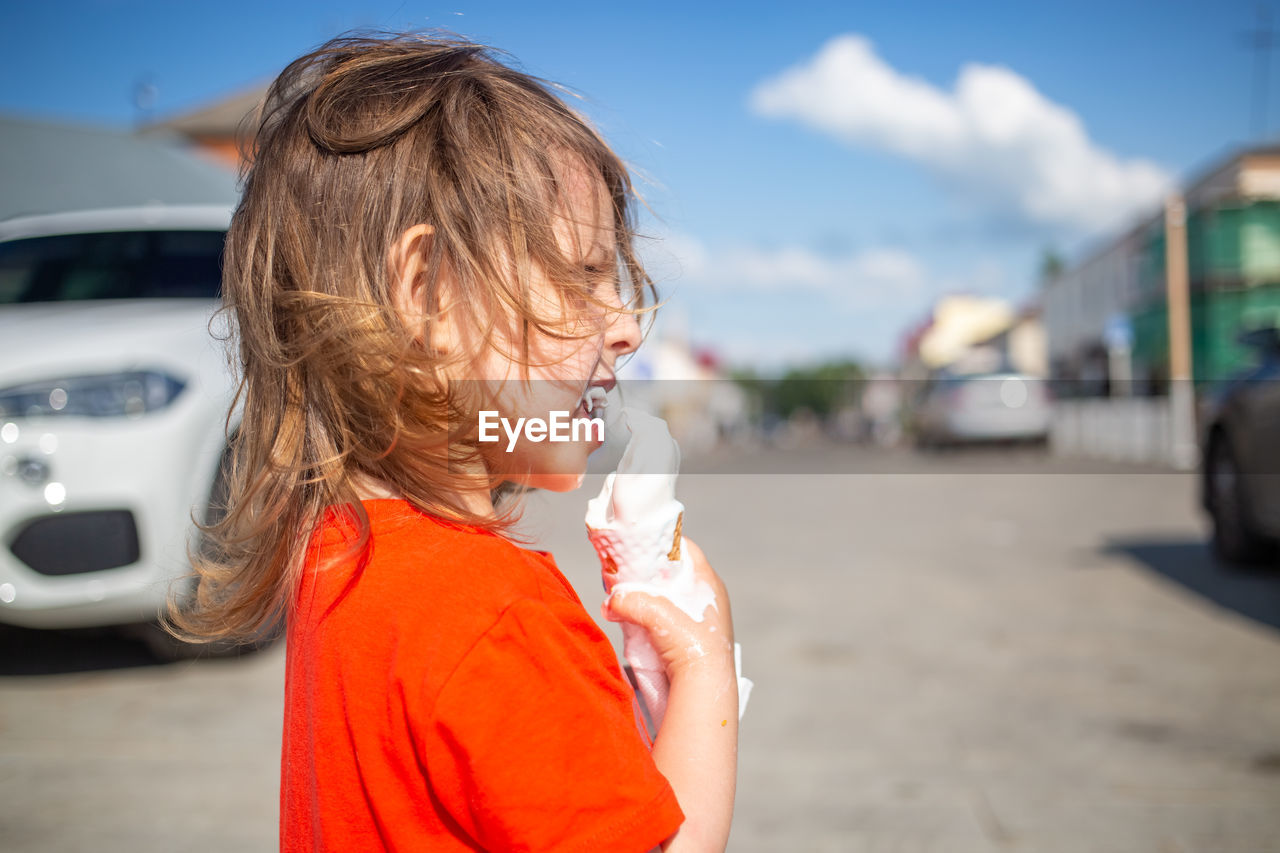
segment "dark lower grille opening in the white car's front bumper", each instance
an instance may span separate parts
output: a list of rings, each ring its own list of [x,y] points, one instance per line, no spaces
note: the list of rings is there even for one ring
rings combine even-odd
[[[68,512],[28,521],[9,546],[42,575],[79,575],[138,561],[138,526],[128,510]]]

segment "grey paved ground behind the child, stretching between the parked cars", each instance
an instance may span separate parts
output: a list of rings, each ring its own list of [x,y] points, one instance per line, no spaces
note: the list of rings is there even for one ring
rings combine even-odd
[[[682,478],[685,530],[756,683],[732,850],[1280,850],[1280,571],[1212,561],[1192,475],[831,447],[690,467],[718,471]],[[586,497],[535,496],[526,526],[594,612]],[[0,848],[274,849],[282,649],[0,642]]]

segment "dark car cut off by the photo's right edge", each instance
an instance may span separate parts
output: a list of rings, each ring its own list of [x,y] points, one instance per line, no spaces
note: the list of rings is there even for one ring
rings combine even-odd
[[[1275,561],[1280,548],[1280,329],[1242,337],[1257,366],[1235,377],[1204,418],[1201,502],[1213,551],[1229,562]]]

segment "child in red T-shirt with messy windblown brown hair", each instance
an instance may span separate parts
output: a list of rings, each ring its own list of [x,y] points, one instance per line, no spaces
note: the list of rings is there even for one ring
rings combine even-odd
[[[737,690],[703,621],[613,596],[671,680],[650,744],[607,638],[495,500],[576,487],[652,286],[630,179],[545,86],[457,38],[348,37],[271,86],[228,234],[243,418],[225,516],[172,619],[288,634],[284,850],[723,849]],[[590,430],[588,430],[590,432]],[[593,435],[594,438],[594,435]]]

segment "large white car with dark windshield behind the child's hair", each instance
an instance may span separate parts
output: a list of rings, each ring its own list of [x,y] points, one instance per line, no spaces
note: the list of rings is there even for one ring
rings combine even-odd
[[[152,621],[189,573],[233,398],[230,214],[0,222],[0,622]]]

